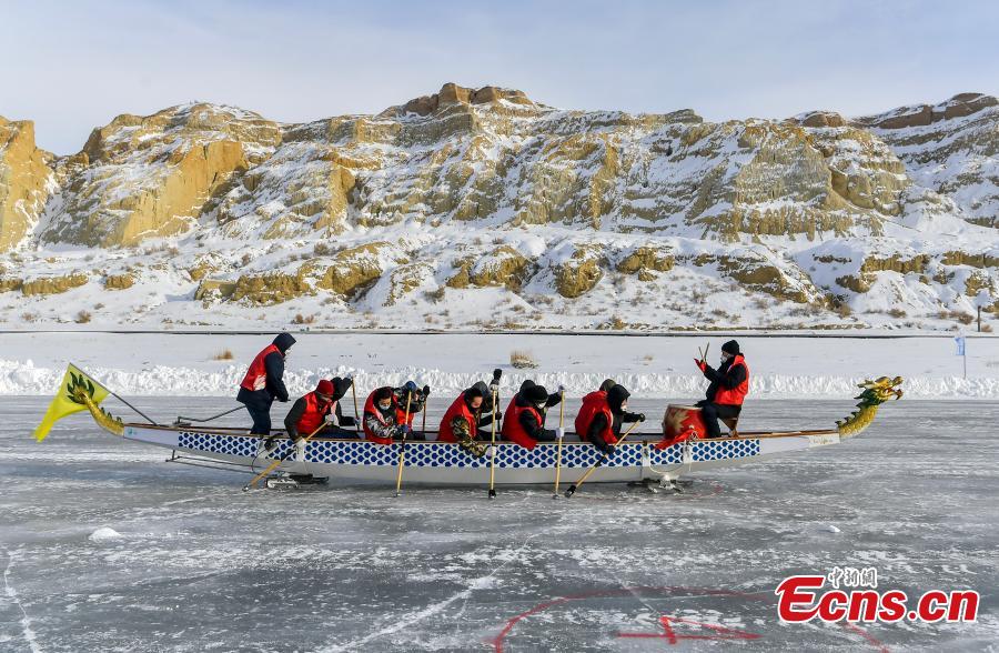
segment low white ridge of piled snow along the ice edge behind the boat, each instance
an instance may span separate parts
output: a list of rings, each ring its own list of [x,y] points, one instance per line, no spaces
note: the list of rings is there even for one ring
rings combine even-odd
[[[56,392],[64,369],[40,368],[32,361],[0,360],[0,394],[48,395]],[[245,369],[228,365],[220,370],[190,366],[154,365],[139,370],[88,366],[87,372],[108,388],[124,395],[170,396],[234,396]],[[445,372],[434,368],[401,366],[382,371],[340,365],[317,368],[314,371],[289,370],[285,383],[292,394],[304,393],[320,379],[354,374],[362,400],[380,385],[401,385],[412,379],[417,384],[428,384],[436,395],[453,395],[476,381],[487,380],[480,374]],[[505,373],[502,392],[506,395],[525,379],[555,391],[559,384],[566,392],[581,396],[599,386],[605,373]],[[700,398],[706,381],[699,374],[666,374],[652,372],[625,372],[613,376],[633,393],[649,398]],[[850,399],[858,392],[860,376],[756,374],[751,382],[754,399]],[[917,376],[906,379],[907,399],[991,399],[999,400],[999,378],[961,379],[960,376]]]

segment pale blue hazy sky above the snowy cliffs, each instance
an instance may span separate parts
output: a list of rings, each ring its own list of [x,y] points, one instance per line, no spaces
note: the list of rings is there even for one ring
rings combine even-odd
[[[999,2],[0,0],[0,115],[59,154],[119,113],[299,122],[447,81],[566,109],[859,115],[999,93]]]

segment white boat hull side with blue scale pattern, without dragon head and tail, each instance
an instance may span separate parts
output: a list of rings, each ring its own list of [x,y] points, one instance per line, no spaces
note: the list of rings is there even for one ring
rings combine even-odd
[[[258,435],[228,430],[125,424],[127,440],[163,446],[261,471],[285,456],[294,459],[293,444],[279,438],[270,455]],[[687,441],[657,449],[653,441],[624,442],[599,466],[587,483],[622,483],[673,480],[690,472],[743,464],[763,456],[836,444],[836,431],[745,434],[739,438]],[[278,468],[349,481],[395,482],[402,445],[377,444],[356,439],[315,438],[306,443],[303,460],[289,460]],[[561,455],[561,481],[578,481],[601,458],[589,443],[567,434],[561,454],[555,443],[525,449],[515,443],[496,445],[495,475],[500,485],[552,484],[556,458]],[[407,442],[404,449],[406,484],[468,485],[488,481],[490,456],[475,458],[461,446],[445,442]]]

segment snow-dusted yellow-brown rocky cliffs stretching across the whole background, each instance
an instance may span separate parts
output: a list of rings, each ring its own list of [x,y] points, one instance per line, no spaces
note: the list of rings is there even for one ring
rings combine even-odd
[[[708,123],[445,84],[120,115],[65,158],[0,121],[0,319],[950,326],[999,308],[997,143],[979,94]]]

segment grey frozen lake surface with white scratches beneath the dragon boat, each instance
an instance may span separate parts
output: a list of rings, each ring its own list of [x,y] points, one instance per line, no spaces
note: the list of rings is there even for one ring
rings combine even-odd
[[[890,403],[847,444],[704,473],[683,495],[592,485],[558,501],[543,486],[488,501],[485,478],[398,499],[335,481],[243,493],[246,476],[164,464],[169,451],[117,440],[85,414],[36,444],[47,403],[0,399],[3,652],[995,651],[999,641],[993,402]],[[664,404],[632,402],[653,420]],[[167,420],[232,403],[141,406]],[[824,428],[849,406],[755,403],[745,428]],[[875,566],[880,589],[910,596],[978,590],[979,621],[783,625],[777,584],[837,565]],[[684,620],[676,646],[623,636],[662,634],[663,615]]]

